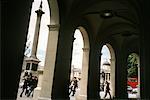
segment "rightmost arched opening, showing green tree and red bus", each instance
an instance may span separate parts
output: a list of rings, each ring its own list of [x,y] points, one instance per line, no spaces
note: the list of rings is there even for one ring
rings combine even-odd
[[[140,98],[140,59],[136,53],[127,58],[127,93],[128,98]]]

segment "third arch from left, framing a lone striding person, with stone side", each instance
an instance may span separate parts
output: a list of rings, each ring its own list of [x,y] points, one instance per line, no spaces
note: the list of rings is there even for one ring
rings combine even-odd
[[[108,43],[103,45],[101,54],[100,97],[110,99],[115,97],[115,54]]]

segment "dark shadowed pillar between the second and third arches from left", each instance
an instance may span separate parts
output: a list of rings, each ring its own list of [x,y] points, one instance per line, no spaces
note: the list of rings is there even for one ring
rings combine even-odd
[[[93,43],[90,47],[87,100],[100,99],[100,67],[99,67],[99,45]]]

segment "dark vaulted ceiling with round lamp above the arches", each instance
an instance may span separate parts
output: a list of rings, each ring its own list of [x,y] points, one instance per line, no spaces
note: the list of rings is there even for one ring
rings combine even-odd
[[[60,21],[78,26],[84,20],[99,40],[114,34],[139,34],[140,0],[58,0],[58,5]],[[107,17],[107,13],[112,15]]]

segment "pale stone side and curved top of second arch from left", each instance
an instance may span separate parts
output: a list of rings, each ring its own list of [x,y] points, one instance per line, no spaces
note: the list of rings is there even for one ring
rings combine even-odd
[[[79,26],[78,29],[81,32],[83,37],[83,59],[82,59],[82,76],[81,76],[81,83],[80,83],[80,93],[77,96],[77,99],[86,99],[87,98],[87,83],[88,83],[88,68],[89,68],[89,37],[88,33],[82,26]]]

